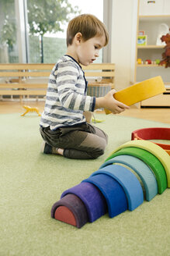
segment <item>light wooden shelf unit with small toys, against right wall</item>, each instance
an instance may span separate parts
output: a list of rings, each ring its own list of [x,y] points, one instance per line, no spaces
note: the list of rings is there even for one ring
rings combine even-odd
[[[154,76],[161,76],[167,90],[164,94],[141,101],[141,106],[170,107],[170,67],[160,65],[166,45],[161,41],[161,37],[170,33],[170,9],[164,10],[165,4],[168,4],[164,1],[166,0],[162,1],[162,8],[161,5],[158,8],[160,3],[157,1],[138,0],[134,81],[138,83]]]

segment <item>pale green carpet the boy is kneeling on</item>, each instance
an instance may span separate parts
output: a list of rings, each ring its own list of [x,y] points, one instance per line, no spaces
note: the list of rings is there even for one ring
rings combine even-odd
[[[50,218],[61,193],[99,169],[113,149],[142,127],[170,127],[123,116],[96,115],[109,135],[105,155],[71,160],[40,153],[40,117],[0,115],[0,256],[170,255],[170,190],[134,212],[106,214],[77,229]]]

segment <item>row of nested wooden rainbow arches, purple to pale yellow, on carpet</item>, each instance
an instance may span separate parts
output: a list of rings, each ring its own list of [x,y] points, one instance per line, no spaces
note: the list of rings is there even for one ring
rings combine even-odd
[[[147,140],[130,140],[75,187],[65,190],[51,208],[51,217],[81,228],[107,212],[113,218],[134,211],[170,187],[170,158]]]

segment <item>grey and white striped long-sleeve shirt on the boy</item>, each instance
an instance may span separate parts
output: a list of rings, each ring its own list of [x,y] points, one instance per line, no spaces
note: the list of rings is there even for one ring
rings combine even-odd
[[[57,130],[85,123],[83,111],[95,109],[95,97],[87,96],[86,90],[82,67],[71,56],[64,55],[50,73],[40,126]]]

